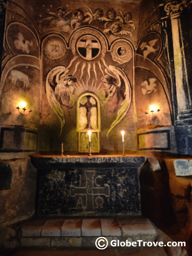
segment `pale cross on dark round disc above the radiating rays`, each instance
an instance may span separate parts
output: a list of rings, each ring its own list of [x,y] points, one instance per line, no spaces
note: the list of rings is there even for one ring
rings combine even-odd
[[[86,38],[86,37],[83,37],[77,43],[77,47],[78,47],[79,53],[83,57],[85,57],[87,60],[91,60],[92,58],[96,57],[100,49],[100,45],[95,40],[95,38]]]

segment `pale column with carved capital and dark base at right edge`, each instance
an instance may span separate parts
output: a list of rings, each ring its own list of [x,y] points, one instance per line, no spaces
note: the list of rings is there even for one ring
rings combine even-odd
[[[161,25],[171,78],[171,94],[179,153],[192,153],[192,5],[189,0],[168,1]]]

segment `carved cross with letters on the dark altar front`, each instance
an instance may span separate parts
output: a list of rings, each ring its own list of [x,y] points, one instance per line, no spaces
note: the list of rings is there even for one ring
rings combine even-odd
[[[79,195],[77,206],[78,206],[78,204],[83,205],[82,196],[86,195],[86,210],[94,211],[94,208],[95,208],[94,207],[94,196],[95,195],[98,196],[95,200],[96,205],[98,205],[99,200],[102,200],[100,195],[104,195],[106,197],[110,196],[110,187],[108,184],[105,184],[104,187],[100,187],[100,185],[97,183],[97,179],[102,179],[102,176],[99,175],[94,179],[95,171],[85,171],[84,175],[86,178],[86,184],[85,184],[86,186],[81,187],[81,175],[79,175],[80,176],[80,185],[78,187],[71,185],[70,186],[70,195],[71,196]],[[94,186],[94,183],[95,183],[96,187]],[[102,204],[102,203],[100,203],[100,204]]]

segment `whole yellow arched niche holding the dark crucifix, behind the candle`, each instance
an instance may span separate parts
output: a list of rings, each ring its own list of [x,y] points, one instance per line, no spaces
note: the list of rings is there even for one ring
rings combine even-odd
[[[77,100],[77,132],[78,151],[89,152],[89,135],[91,130],[91,151],[100,151],[100,102],[98,97],[90,92],[80,95]]]

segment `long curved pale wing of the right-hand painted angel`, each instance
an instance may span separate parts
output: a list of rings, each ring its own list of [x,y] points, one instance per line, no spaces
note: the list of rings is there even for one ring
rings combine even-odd
[[[123,93],[123,102],[121,103],[120,109],[117,111],[116,119],[111,124],[110,129],[108,130],[106,137],[109,137],[109,134],[111,130],[121,122],[121,120],[126,115],[127,111],[129,110],[131,106],[131,86],[129,79],[127,78],[126,74],[117,67],[109,66],[109,70],[115,74],[118,80],[117,87],[123,88],[124,87],[124,93]]]

